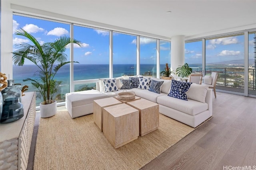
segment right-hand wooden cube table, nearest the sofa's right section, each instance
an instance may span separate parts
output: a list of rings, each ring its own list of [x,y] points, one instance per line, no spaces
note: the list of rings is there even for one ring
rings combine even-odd
[[[127,102],[140,111],[140,136],[144,136],[159,127],[159,104],[146,99]]]

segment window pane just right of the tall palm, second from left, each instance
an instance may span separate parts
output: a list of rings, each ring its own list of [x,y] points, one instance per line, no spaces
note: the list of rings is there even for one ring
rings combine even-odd
[[[109,77],[109,31],[74,25],[74,81]],[[75,91],[96,88],[96,83],[76,84]]]

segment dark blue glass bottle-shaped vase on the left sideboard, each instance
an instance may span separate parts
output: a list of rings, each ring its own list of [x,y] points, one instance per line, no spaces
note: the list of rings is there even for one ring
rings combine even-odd
[[[21,103],[22,92],[14,86],[14,80],[7,80],[8,86],[2,90],[3,108],[0,123],[10,123],[24,116]]]

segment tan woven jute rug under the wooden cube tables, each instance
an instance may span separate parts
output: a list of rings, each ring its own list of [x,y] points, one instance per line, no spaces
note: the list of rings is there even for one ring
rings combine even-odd
[[[72,119],[68,111],[40,118],[34,170],[138,170],[194,131],[159,115],[159,128],[114,149],[93,114]]]

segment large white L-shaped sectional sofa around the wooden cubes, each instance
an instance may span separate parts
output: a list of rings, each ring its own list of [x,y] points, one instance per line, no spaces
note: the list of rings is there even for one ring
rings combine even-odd
[[[127,79],[129,77],[119,77],[116,80]],[[72,118],[93,113],[93,100],[117,96],[123,92],[120,89],[120,82],[116,82],[118,91],[103,92],[102,81],[96,83],[96,90],[82,92],[72,92],[66,94],[66,108]],[[172,119],[176,119],[191,127],[197,127],[206,119],[212,116],[212,89],[206,85],[191,84],[188,92],[188,100],[181,100],[167,96],[170,92],[172,80],[151,78],[151,80],[164,81],[160,94],[139,88],[128,89],[136,96],[156,102],[159,104],[159,112]]]

